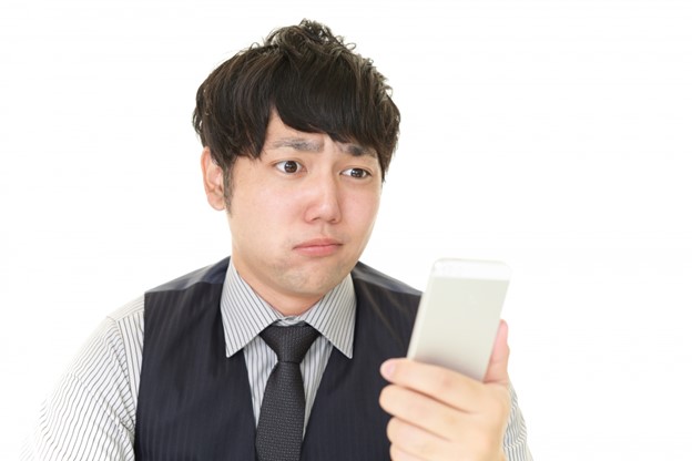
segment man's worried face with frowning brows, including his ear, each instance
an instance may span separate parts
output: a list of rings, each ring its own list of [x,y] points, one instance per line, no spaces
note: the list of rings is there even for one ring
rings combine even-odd
[[[203,155],[205,163],[207,197],[220,208],[218,171],[210,174],[215,165]],[[380,193],[375,152],[295,131],[273,115],[261,157],[238,157],[233,166],[233,264],[274,308],[301,314],[355,266]]]

